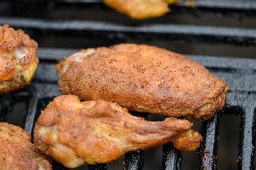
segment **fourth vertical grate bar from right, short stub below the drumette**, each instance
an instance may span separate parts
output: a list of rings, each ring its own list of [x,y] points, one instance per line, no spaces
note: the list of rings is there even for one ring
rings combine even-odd
[[[140,170],[143,168],[143,151],[128,152],[125,154],[124,169]]]

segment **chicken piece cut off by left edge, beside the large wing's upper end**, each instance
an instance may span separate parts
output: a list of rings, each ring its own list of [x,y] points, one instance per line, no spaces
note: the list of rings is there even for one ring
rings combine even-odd
[[[21,89],[38,65],[37,42],[22,30],[0,26],[0,94]]]

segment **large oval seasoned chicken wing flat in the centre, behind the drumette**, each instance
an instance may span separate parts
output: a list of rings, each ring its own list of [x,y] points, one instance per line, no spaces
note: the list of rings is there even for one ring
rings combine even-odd
[[[205,121],[223,108],[226,82],[180,54],[149,45],[89,48],[56,70],[64,94],[130,110]]]

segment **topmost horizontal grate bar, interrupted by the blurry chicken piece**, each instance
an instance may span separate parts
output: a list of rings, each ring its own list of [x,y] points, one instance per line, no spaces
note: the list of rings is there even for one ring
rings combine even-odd
[[[30,8],[59,8],[68,6],[69,8],[101,8],[106,9],[100,0],[2,0],[0,10],[8,9],[30,9]],[[192,6],[192,8],[187,8]],[[189,5],[179,2],[170,6],[171,13],[188,13],[196,16],[230,16],[230,17],[250,17],[256,16],[256,2],[254,0],[194,0]],[[195,10],[196,9],[196,10]]]

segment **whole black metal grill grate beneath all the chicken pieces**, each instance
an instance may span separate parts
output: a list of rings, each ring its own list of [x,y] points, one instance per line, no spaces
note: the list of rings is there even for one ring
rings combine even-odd
[[[219,18],[256,17],[255,1],[205,0],[196,1],[194,8],[186,8],[185,3],[177,3],[170,8],[172,12],[164,18],[175,14]],[[73,12],[81,9],[92,9],[96,12],[111,11],[97,0],[1,1],[0,24],[9,24],[16,29],[24,29],[32,38],[37,40],[36,37],[41,37],[42,41],[42,37],[46,36],[63,36],[68,39],[82,37],[92,41],[102,38],[113,42],[129,42],[132,40],[163,40],[183,43],[207,42],[207,44],[237,45],[245,49],[255,47],[256,45],[256,29],[244,27],[169,24],[157,19],[138,22],[127,19],[117,13],[114,13],[117,17],[108,18],[103,21],[97,17],[92,17],[94,20],[73,20],[70,16],[66,16],[68,18],[66,20],[60,20],[59,18],[61,17],[59,16],[41,19],[44,11],[58,9],[66,9]],[[34,11],[32,13],[35,16],[28,18],[31,11]],[[35,11],[38,11],[38,13]],[[120,18],[118,19],[118,17]],[[71,47],[80,47],[80,44],[64,46],[69,45]],[[84,45],[82,46],[85,47]],[[46,107],[53,97],[61,94],[56,84],[58,75],[53,66],[63,56],[68,56],[77,51],[78,49],[40,47],[38,50],[40,63],[32,83],[23,90],[0,96],[0,121],[6,121],[6,115],[12,110],[15,103],[25,102],[26,114],[24,115],[23,128],[32,135],[33,124],[41,110]],[[199,169],[217,168],[220,116],[224,114],[233,114],[240,117],[239,152],[236,160],[238,168],[254,169],[256,60],[205,55],[186,56],[198,61],[214,75],[224,79],[230,87],[226,95],[226,104],[223,111],[217,112],[213,118],[203,123],[203,132],[201,134],[204,140],[198,150],[200,157]],[[234,126],[239,125],[235,124]],[[143,151],[126,153],[124,168],[142,169],[144,156]],[[180,151],[175,150],[171,143],[165,144],[163,146],[163,160],[159,168],[181,169],[181,162],[182,156]],[[55,161],[52,162],[52,165],[53,169],[66,169]],[[88,165],[88,168],[107,169],[107,165]]]

